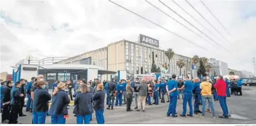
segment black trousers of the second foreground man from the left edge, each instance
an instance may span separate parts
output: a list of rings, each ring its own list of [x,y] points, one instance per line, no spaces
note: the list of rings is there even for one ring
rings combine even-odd
[[[20,105],[12,105],[9,114],[8,124],[18,124],[18,114],[20,112]]]

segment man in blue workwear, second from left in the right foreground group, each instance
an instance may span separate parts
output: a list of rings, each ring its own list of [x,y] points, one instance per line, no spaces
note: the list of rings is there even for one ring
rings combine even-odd
[[[193,117],[193,108],[192,108],[193,84],[189,80],[189,77],[187,75],[185,76],[185,82],[184,82],[184,85],[181,87],[181,89],[184,90],[184,99],[183,99],[183,112],[180,116],[186,117],[186,103],[188,103],[189,114],[187,114],[187,116]]]

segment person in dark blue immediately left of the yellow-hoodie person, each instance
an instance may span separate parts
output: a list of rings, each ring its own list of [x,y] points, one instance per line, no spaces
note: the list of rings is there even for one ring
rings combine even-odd
[[[195,78],[195,82],[193,84],[193,94],[194,94],[194,114],[202,113],[202,111],[199,110],[199,99],[201,96],[201,89],[200,89],[200,79],[198,77]]]

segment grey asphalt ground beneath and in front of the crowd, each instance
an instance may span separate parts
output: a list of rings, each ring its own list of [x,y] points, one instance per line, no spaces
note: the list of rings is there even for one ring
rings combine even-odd
[[[177,113],[178,117],[166,117],[166,110],[169,103],[160,103],[160,105],[146,106],[145,112],[131,111],[126,112],[125,105],[115,107],[114,110],[105,109],[106,124],[256,124],[256,87],[243,87],[243,96],[232,95],[227,99],[227,105],[231,114],[230,119],[213,119],[211,113],[206,113],[206,117],[199,115],[194,117],[180,117],[182,113],[182,100],[178,100]],[[135,107],[135,103],[132,103]],[[76,124],[76,117],[73,116],[73,106],[69,107],[70,117],[67,124]],[[194,107],[193,107],[194,108]],[[202,106],[200,106],[202,110]],[[187,111],[189,108],[187,107]],[[219,101],[215,101],[216,116],[222,115]],[[32,115],[29,112],[26,117],[19,117],[19,123],[30,124]],[[47,116],[47,124],[50,124],[50,116]],[[96,123],[95,114],[93,114],[92,124]]]

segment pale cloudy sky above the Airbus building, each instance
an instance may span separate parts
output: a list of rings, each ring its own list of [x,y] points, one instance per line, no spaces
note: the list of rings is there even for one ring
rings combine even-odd
[[[228,63],[231,69],[254,72],[252,61],[253,57],[256,57],[256,1],[204,1],[227,31],[212,17],[201,1],[189,1],[221,33],[221,36],[186,1],[177,0],[176,3],[207,29],[189,17],[172,0],[163,0],[171,9],[222,47],[158,0],[149,2],[203,38],[167,17],[145,0],[113,1],[208,51],[108,0],[1,0],[0,72],[11,73],[10,66],[25,59],[27,55],[32,55],[33,59],[74,56],[121,39],[138,41],[139,34],[158,39],[160,47],[164,50],[172,48],[175,53],[189,57],[195,54],[213,57]]]

